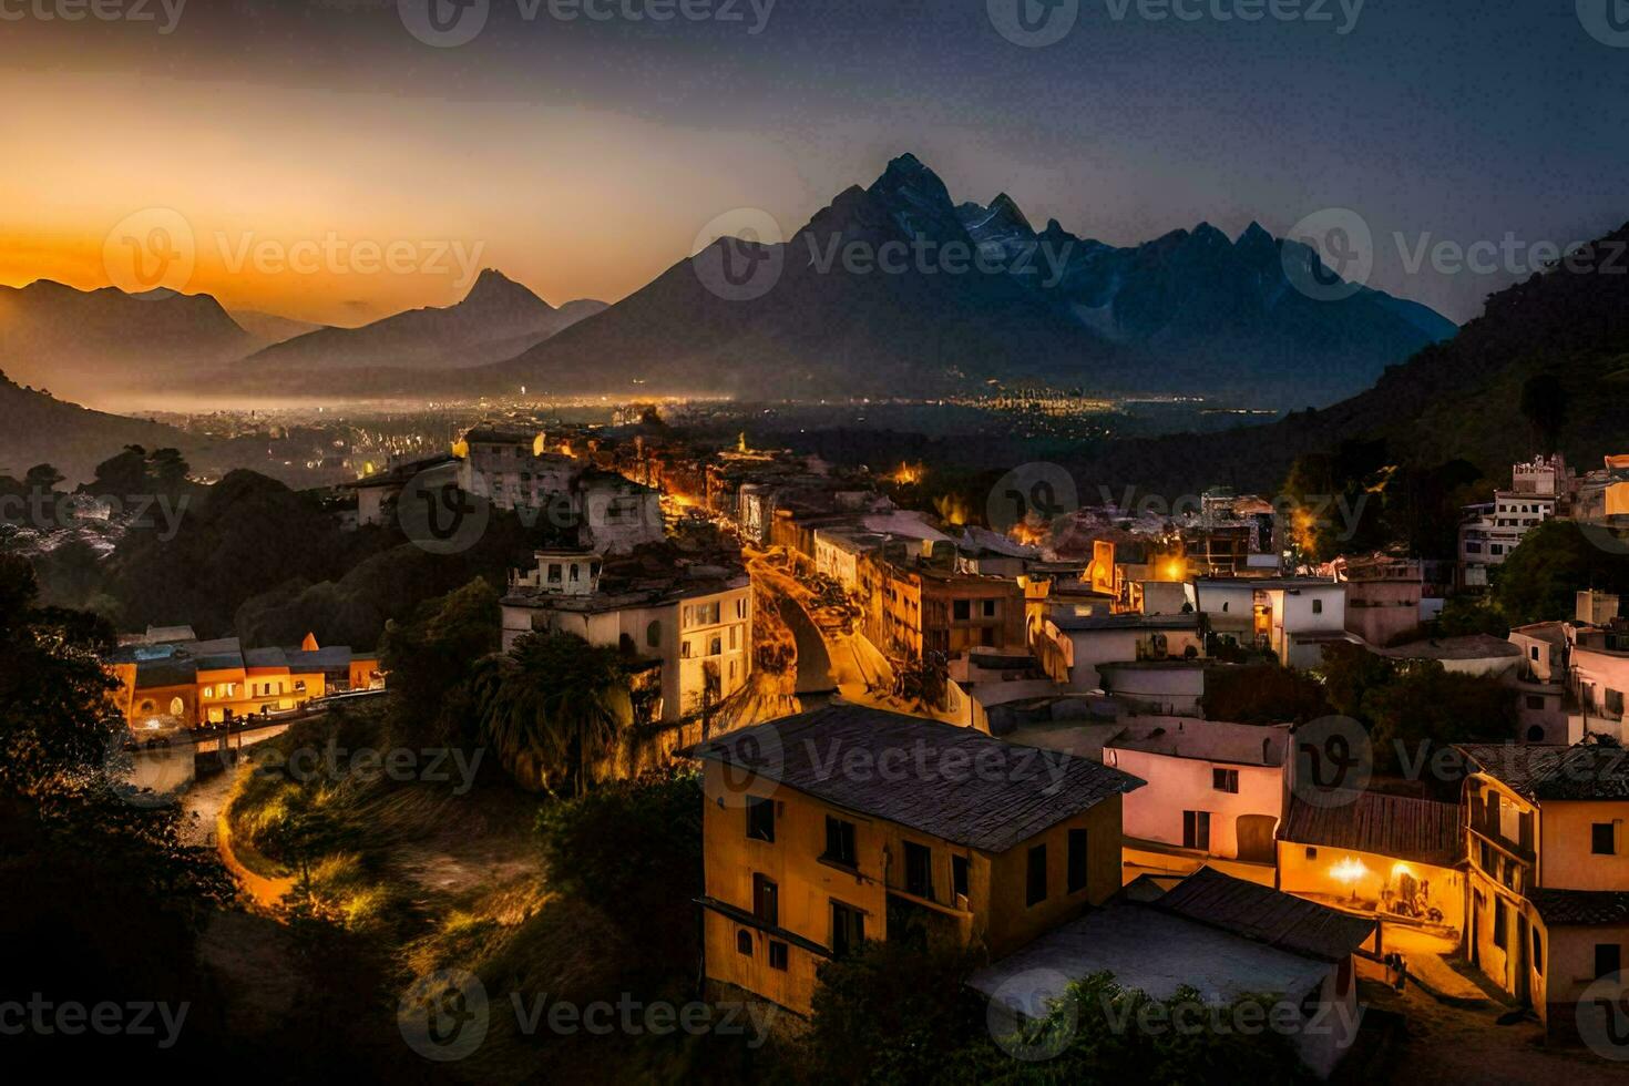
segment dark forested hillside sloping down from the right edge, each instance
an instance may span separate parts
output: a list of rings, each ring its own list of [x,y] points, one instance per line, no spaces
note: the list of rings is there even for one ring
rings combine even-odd
[[[1510,464],[1539,451],[1523,412],[1530,383],[1565,404],[1561,451],[1580,471],[1629,451],[1629,223],[1564,262],[1492,295],[1451,340],[1391,366],[1368,391],[1264,427],[1170,435],[1083,451],[1072,467],[1114,485],[1170,495],[1210,485],[1271,492],[1297,456],[1372,443],[1391,464],[1466,461],[1508,482]]]

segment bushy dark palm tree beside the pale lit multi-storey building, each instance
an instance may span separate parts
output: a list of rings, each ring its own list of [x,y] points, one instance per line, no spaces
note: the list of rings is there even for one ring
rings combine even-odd
[[[627,671],[614,648],[573,633],[531,633],[476,666],[481,734],[525,788],[575,796],[588,788],[634,720]]]

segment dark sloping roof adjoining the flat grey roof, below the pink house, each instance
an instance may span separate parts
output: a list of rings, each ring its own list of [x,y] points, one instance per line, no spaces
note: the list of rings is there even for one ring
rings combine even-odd
[[[1337,962],[1359,948],[1375,922],[1293,897],[1271,886],[1246,882],[1215,868],[1199,868],[1155,909],[1173,912],[1292,954]]]

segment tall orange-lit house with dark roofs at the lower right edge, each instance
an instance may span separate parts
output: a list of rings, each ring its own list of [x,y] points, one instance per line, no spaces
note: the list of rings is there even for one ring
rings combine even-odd
[[[1629,951],[1629,754],[1616,742],[1460,751],[1464,956],[1551,1039],[1575,1040],[1580,995]]]

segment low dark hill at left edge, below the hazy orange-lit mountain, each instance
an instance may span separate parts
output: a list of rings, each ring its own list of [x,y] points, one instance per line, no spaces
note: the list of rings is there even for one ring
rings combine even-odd
[[[186,449],[187,438],[173,427],[88,410],[24,389],[0,373],[0,475],[21,479],[34,464],[50,464],[78,484],[125,444]]]

